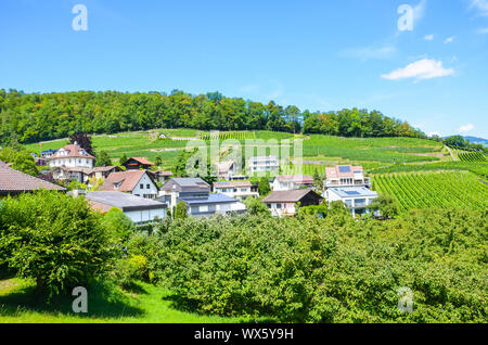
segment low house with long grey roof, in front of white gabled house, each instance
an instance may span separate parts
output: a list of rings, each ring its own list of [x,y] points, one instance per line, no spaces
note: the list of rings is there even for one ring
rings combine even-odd
[[[166,217],[166,204],[124,192],[88,192],[85,197],[93,209],[107,213],[114,207],[118,208],[136,225],[147,223],[156,220],[156,218]]]

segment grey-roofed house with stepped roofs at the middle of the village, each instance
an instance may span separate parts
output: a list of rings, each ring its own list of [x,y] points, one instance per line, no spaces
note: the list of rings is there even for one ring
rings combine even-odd
[[[172,178],[160,188],[157,199],[172,209],[179,202],[188,206],[188,214],[193,217],[216,214],[244,213],[245,205],[224,194],[210,193],[210,184],[201,178]]]

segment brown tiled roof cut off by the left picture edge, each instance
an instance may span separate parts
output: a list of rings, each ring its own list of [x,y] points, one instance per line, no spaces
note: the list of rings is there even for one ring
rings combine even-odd
[[[56,191],[66,190],[57,184],[11,169],[5,164],[0,164],[0,194],[16,194],[39,189]]]

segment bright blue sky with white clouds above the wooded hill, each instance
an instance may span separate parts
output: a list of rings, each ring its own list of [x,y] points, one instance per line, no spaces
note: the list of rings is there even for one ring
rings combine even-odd
[[[0,42],[4,89],[218,90],[488,138],[488,0],[1,0]]]

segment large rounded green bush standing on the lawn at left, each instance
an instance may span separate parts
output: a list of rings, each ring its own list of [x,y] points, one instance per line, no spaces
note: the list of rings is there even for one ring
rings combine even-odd
[[[106,271],[113,250],[101,216],[85,200],[41,191],[2,204],[2,260],[18,276],[36,279],[39,291],[52,296]]]

